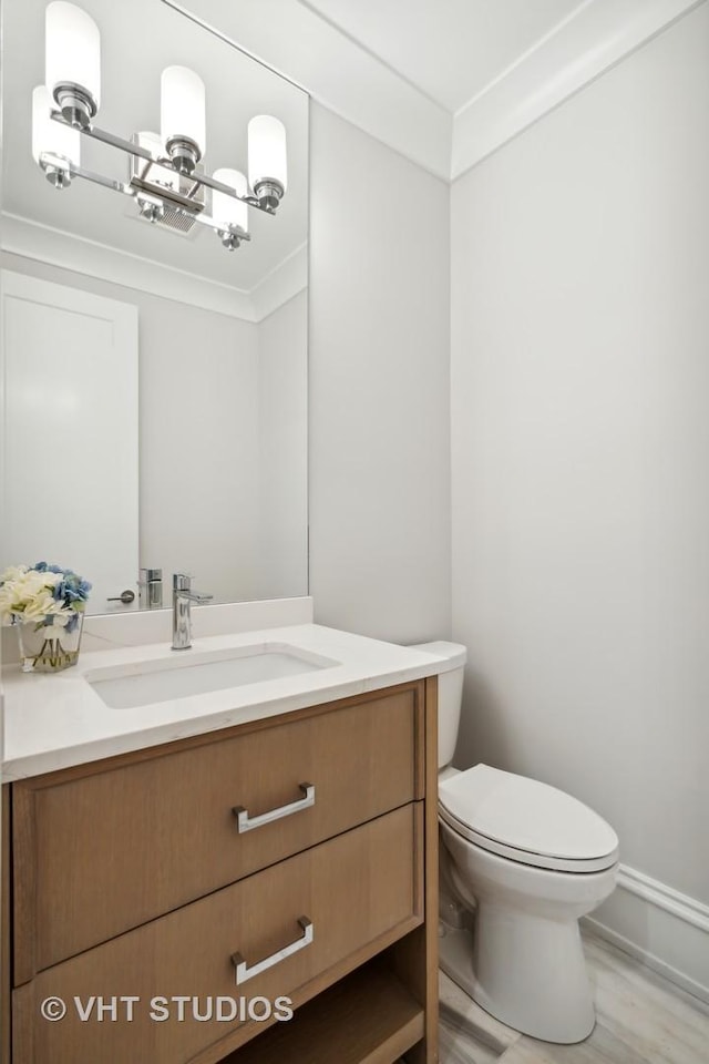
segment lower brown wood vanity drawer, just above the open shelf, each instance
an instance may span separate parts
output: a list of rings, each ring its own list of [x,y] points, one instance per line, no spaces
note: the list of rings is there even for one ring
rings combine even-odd
[[[202,1015],[219,996],[238,1004],[242,996],[275,1002],[285,995],[301,1004],[321,989],[322,973],[346,974],[422,922],[422,808],[414,802],[397,809],[42,972],[13,992],[13,1060],[220,1060],[261,1025],[198,1022],[193,999]],[[243,955],[248,975],[257,962],[298,941],[302,917],[311,921],[312,941],[237,985],[232,955]],[[60,1023],[41,1016],[50,996],[68,1004]],[[165,1022],[151,1020],[157,996],[167,999]],[[183,1022],[176,996],[188,999]],[[85,1010],[91,998],[104,1005],[116,999],[115,1021],[104,1013],[99,1022],[92,1013],[82,1022],[75,999]],[[130,1022],[121,998],[138,999]],[[263,1014],[266,1006],[257,1007]]]

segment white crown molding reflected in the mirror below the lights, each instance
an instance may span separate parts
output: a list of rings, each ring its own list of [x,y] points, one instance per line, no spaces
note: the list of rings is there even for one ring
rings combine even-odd
[[[308,284],[307,245],[296,248],[247,291],[6,211],[0,249],[255,324]]]

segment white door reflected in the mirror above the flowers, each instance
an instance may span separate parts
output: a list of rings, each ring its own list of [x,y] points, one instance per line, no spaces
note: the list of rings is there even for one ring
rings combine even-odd
[[[2,319],[0,569],[71,567],[105,612],[138,572],[136,308],[2,270]]]

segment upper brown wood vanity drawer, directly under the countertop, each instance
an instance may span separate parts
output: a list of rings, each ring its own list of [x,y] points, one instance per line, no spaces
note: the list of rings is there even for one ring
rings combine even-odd
[[[422,706],[409,684],[16,784],[14,985],[420,798]]]

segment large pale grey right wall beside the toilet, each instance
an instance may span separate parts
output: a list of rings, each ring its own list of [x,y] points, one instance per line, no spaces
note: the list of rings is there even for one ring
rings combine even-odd
[[[458,761],[586,800],[705,950],[708,103],[705,4],[451,203]]]

